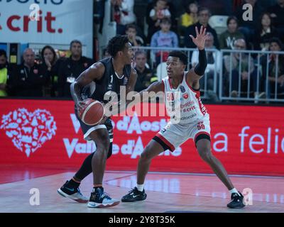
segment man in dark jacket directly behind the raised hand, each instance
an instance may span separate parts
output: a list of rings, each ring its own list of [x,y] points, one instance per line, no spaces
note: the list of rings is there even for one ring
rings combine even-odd
[[[214,46],[219,49],[219,41],[217,37],[216,31],[209,26],[209,17],[211,16],[211,13],[209,9],[202,8],[200,11],[198,11],[198,22],[193,24],[192,26],[189,26],[185,30],[185,46],[187,48],[195,48],[195,44],[192,42],[192,39],[189,38],[190,35],[195,35],[195,27],[197,27],[198,31],[200,31],[201,26],[206,28],[206,31],[209,33],[212,33],[214,36]]]

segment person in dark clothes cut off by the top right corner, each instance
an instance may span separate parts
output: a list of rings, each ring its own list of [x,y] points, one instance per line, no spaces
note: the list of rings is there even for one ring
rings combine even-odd
[[[268,8],[273,19],[273,26],[278,30],[280,38],[284,40],[284,0],[277,0],[277,4]]]

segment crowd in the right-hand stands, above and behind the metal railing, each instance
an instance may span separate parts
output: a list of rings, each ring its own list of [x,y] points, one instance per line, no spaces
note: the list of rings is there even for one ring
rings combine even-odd
[[[128,4],[129,10],[130,8],[132,10],[127,15],[132,15],[135,8],[132,6],[136,4],[133,0],[114,0],[112,3],[115,9],[114,14],[117,14],[120,10],[119,15],[122,17],[127,14],[125,13],[125,4]],[[244,4],[252,6],[252,20],[244,20]],[[217,9],[218,7],[219,9]],[[163,48],[195,48],[189,37],[195,34],[195,27],[200,29],[201,26],[204,26],[209,35],[206,48],[207,50],[214,50],[214,52],[207,51],[209,64],[206,77],[203,79],[206,80],[207,90],[212,91],[213,82],[222,77],[226,96],[271,98],[275,94],[275,87],[277,88],[278,98],[284,95],[283,67],[273,67],[273,65],[284,65],[282,55],[268,55],[269,62],[264,66],[263,59],[267,55],[263,54],[261,55],[262,63],[258,62],[258,67],[258,55],[248,55],[242,52],[230,54],[228,51],[223,52],[224,57],[222,58],[219,52],[219,50],[283,51],[284,0],[216,0],[214,4],[212,4],[212,1],[197,0],[148,0],[145,9],[143,18],[145,18],[147,29],[139,27],[137,20],[135,20],[140,16],[138,14],[132,17],[133,21],[131,22],[131,28],[133,30],[136,28],[136,34],[137,31],[140,31],[140,33],[146,31],[146,33],[140,34],[143,42],[134,42],[131,36],[129,36],[129,40],[134,46],[160,48],[160,51],[154,50],[152,51],[154,54],[147,53],[146,55],[148,62],[153,63],[151,64],[153,74],[155,74],[155,68],[161,62],[165,62],[168,57],[168,52]],[[222,11],[222,9],[224,10]],[[218,11],[219,15],[227,16],[226,29],[222,33],[209,25],[210,17],[214,16],[212,11]],[[141,13],[140,9],[139,13]],[[124,34],[121,33],[120,26],[121,23],[118,23],[117,31]],[[129,24],[126,26],[129,26]],[[126,34],[128,33],[126,32]],[[275,45],[278,48],[273,49]],[[194,67],[197,61],[197,52],[190,52],[189,56],[191,67]],[[221,75],[220,67],[222,65],[224,68]],[[269,67],[269,70],[266,70],[267,67]],[[258,71],[261,72],[258,73]],[[268,75],[266,75],[267,72]],[[229,81],[230,79],[231,81]],[[203,81],[201,87],[204,87]],[[217,100],[217,94],[211,93],[210,95],[213,96],[213,101]]]

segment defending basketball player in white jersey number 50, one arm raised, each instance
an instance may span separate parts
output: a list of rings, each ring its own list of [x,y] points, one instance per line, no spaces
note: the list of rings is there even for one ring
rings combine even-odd
[[[142,92],[165,92],[165,104],[168,110],[169,106],[180,106],[180,114],[172,114],[170,122],[148,143],[143,150],[138,161],[137,185],[128,194],[122,197],[121,201],[142,201],[146,199],[144,190],[144,181],[149,170],[151,160],[165,150],[174,151],[188,139],[193,139],[198,153],[202,160],[212,168],[217,177],[221,179],[224,185],[231,193],[231,201],[227,206],[229,208],[244,207],[244,196],[236,190],[231,183],[222,163],[217,160],[211,151],[210,142],[210,121],[209,114],[203,106],[200,99],[200,78],[207,67],[207,57],[204,50],[204,43],[207,38],[206,28],[201,27],[200,32],[195,28],[197,37],[192,41],[199,49],[199,63],[195,68],[185,72],[187,66],[187,55],[180,51],[170,52],[167,60],[168,77],[161,82],[151,84],[148,89]],[[138,95],[142,96],[142,92]],[[177,92],[180,94],[176,99]],[[170,115],[170,114],[169,114]]]

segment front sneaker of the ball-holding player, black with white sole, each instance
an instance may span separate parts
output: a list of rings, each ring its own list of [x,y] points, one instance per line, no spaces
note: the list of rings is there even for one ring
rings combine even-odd
[[[119,204],[119,200],[111,199],[111,197],[104,192],[103,187],[97,187],[94,192],[91,193],[89,198],[88,207],[91,208],[103,208],[109,206],[116,206]]]

